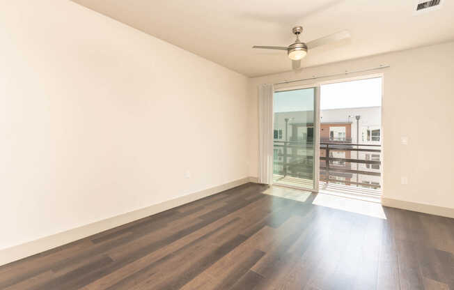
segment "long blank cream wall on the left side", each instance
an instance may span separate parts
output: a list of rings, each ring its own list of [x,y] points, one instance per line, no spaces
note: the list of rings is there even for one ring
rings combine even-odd
[[[245,178],[246,86],[76,3],[1,1],[0,249]]]

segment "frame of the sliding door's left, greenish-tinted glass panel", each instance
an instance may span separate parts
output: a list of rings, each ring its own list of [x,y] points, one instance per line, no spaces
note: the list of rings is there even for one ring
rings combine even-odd
[[[310,84],[301,86],[285,86],[279,89],[274,89],[274,93],[278,91],[295,91],[300,89],[314,89],[314,151],[313,151],[313,188],[303,188],[300,186],[293,186],[287,184],[276,183],[276,185],[283,186],[285,188],[295,188],[297,190],[306,190],[317,193],[320,184],[320,84]],[[274,98],[274,97],[273,97]],[[273,113],[274,114],[274,113]],[[274,122],[273,122],[274,125]]]

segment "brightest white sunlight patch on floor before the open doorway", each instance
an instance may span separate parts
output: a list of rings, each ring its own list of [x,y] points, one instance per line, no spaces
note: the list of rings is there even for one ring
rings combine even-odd
[[[313,200],[312,204],[315,204],[317,206],[326,206],[328,208],[335,208],[341,211],[349,211],[350,213],[368,215],[370,217],[379,217],[383,220],[386,220],[386,215],[384,214],[382,205],[375,202],[362,201],[359,199],[349,199],[331,194],[319,193]]]

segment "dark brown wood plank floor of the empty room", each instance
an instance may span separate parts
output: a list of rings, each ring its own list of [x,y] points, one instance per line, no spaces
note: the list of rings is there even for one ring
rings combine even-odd
[[[0,267],[0,289],[452,289],[454,220],[247,184]]]

